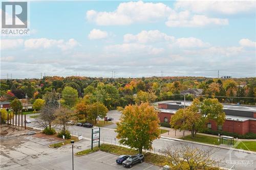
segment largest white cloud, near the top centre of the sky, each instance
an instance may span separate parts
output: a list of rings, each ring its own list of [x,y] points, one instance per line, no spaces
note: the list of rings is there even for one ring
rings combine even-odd
[[[165,18],[172,11],[163,3],[125,2],[113,12],[87,11],[86,17],[97,25],[130,25],[134,22],[152,22]]]

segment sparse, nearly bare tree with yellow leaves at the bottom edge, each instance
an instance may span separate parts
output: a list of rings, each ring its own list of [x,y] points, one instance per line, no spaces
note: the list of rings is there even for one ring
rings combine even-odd
[[[181,144],[180,147],[176,145],[166,144],[162,153],[166,156],[168,164],[174,170],[217,170],[218,163],[212,160],[211,157],[218,150],[212,148],[199,149],[188,144]]]

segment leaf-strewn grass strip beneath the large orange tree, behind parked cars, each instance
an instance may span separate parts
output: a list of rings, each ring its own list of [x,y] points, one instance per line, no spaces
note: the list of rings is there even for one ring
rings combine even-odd
[[[112,145],[112,144],[101,144],[100,145],[100,150],[104,152],[111,152],[115,153],[117,155],[135,155],[138,154],[138,151],[129,149],[129,148],[124,148],[124,147],[119,147],[117,145]],[[152,154],[152,153],[144,153],[145,156],[145,161],[151,162],[157,165],[165,165],[166,164],[166,157],[157,155],[157,154]]]

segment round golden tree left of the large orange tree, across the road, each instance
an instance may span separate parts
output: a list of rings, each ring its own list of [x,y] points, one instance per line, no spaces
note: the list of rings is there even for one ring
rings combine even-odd
[[[109,111],[102,103],[96,102],[94,104],[87,106],[88,118],[95,120],[95,124],[97,123],[98,116],[100,118],[104,118],[106,113]]]

